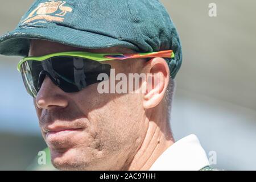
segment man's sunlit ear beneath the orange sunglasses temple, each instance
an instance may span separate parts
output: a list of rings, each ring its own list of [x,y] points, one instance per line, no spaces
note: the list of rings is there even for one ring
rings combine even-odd
[[[144,68],[147,78],[142,84],[142,89],[145,90],[142,101],[144,109],[150,109],[162,101],[168,86],[170,69],[162,57],[147,61]]]

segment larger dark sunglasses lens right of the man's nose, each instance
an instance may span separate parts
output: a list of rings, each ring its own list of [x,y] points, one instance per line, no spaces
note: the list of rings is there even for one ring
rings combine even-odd
[[[47,64],[43,62],[44,64]],[[110,75],[109,64],[101,64],[98,61],[84,59],[81,57],[58,56],[51,58],[52,69],[48,71],[52,78],[55,78],[56,84],[64,92],[79,92],[88,85],[100,82],[98,75],[106,73]]]

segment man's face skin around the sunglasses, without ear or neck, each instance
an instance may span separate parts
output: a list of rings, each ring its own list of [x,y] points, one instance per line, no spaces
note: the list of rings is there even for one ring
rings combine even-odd
[[[33,40],[30,56],[65,51],[131,53],[129,49],[122,52],[118,48],[88,50]],[[129,61],[133,61],[133,65]],[[141,69],[144,61],[105,63],[115,69],[115,74],[127,74]],[[141,94],[100,94],[97,85],[65,93],[46,77],[34,99],[43,138],[58,169],[126,169],[143,142],[147,123]]]

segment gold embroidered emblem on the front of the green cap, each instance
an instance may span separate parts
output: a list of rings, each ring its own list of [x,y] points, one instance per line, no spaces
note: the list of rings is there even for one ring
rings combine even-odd
[[[32,22],[33,20],[37,19],[45,19],[49,22],[56,21],[56,22],[63,22],[64,18],[58,16],[64,16],[68,12],[72,12],[72,8],[69,6],[64,6],[65,1],[55,1],[49,0],[49,2],[39,3],[38,7],[31,11],[31,13],[27,16],[26,19],[23,20],[24,23]],[[49,14],[55,13],[57,10],[61,10],[60,13],[55,14],[57,16],[52,16]]]

